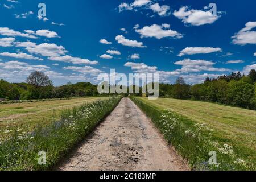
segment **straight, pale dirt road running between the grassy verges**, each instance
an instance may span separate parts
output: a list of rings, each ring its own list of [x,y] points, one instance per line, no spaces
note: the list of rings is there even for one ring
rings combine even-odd
[[[187,170],[150,119],[129,98],[113,112],[58,170]]]

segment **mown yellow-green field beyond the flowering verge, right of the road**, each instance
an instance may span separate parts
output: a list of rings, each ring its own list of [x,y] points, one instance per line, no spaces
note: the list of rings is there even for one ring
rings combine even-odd
[[[200,101],[136,98],[156,109],[170,109],[195,123],[206,123],[213,129],[214,140],[231,144],[241,158],[256,163],[256,111]]]

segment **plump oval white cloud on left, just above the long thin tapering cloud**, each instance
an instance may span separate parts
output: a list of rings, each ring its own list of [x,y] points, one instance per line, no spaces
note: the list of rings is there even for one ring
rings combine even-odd
[[[30,53],[36,53],[42,56],[60,56],[66,52],[63,46],[57,46],[56,44],[43,43],[32,47],[26,47]]]

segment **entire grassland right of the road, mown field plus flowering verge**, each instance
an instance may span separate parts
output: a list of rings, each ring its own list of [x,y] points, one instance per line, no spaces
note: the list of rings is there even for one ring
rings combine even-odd
[[[168,143],[188,159],[192,169],[256,169],[255,111],[168,98],[131,99],[152,119]],[[217,154],[214,164],[209,164],[210,151]]]

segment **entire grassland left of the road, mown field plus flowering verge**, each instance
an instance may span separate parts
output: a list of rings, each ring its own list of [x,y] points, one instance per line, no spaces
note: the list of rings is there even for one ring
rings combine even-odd
[[[119,100],[121,96],[1,105],[0,171],[52,169]]]

